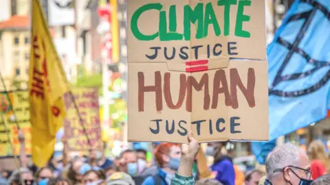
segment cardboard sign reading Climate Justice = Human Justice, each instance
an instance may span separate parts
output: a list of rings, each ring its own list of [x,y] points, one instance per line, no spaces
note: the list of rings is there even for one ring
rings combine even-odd
[[[267,140],[265,2],[129,0],[129,141]]]

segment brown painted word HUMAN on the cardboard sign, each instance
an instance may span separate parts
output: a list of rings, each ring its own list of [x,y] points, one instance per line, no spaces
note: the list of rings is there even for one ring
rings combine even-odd
[[[256,106],[254,99],[254,88],[256,83],[256,77],[254,69],[248,69],[248,82],[246,86],[241,80],[241,76],[237,69],[230,69],[230,77],[226,77],[225,71],[219,69],[214,73],[213,79],[209,79],[208,73],[204,73],[201,79],[196,79],[194,76],[186,77],[185,74],[180,74],[179,77],[179,99],[177,103],[173,103],[173,98],[170,90],[170,73],[164,73],[164,99],[166,106],[170,109],[179,109],[184,103],[186,97],[186,111],[192,112],[192,92],[203,90],[203,110],[217,109],[219,104],[219,95],[223,94],[225,97],[225,106],[231,106],[234,109],[239,108],[239,101],[237,97],[237,87],[243,93],[248,106],[254,108]],[[155,71],[154,75],[155,84],[147,86],[144,84],[144,73],[137,73],[138,80],[138,110],[144,112],[144,96],[146,93],[155,93],[155,107],[157,111],[163,110],[163,87],[162,87],[162,75],[159,71]],[[230,79],[230,83],[228,82]],[[210,95],[209,83],[212,83],[213,91]],[[230,84],[230,86],[228,86]],[[177,93],[177,92],[175,92]],[[212,99],[211,99],[212,97]]]

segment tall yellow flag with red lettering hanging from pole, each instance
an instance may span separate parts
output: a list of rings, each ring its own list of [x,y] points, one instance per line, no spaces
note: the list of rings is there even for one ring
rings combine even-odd
[[[63,125],[63,95],[69,84],[50,36],[39,0],[32,0],[30,53],[30,119],[32,159],[43,167],[54,152],[56,132]]]

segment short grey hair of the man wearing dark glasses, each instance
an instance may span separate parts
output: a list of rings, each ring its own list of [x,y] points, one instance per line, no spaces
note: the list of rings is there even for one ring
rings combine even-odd
[[[276,169],[283,169],[289,165],[298,166],[300,153],[303,151],[292,143],[285,143],[276,147],[266,158],[267,179],[272,180],[276,175],[281,175],[278,172],[274,173]]]

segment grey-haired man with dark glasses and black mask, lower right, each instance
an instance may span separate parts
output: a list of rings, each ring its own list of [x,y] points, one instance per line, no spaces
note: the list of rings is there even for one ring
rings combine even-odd
[[[265,166],[267,185],[309,185],[313,182],[307,154],[292,143],[278,146],[270,152]]]

